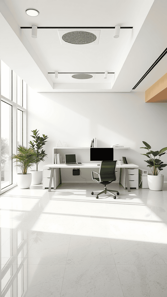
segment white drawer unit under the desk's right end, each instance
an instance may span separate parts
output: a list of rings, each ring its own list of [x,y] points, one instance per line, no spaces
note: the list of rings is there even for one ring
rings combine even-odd
[[[127,171],[128,171],[130,188],[138,189],[138,168],[127,169]],[[127,188],[127,183],[125,179],[125,168],[121,168],[120,183],[124,188]]]

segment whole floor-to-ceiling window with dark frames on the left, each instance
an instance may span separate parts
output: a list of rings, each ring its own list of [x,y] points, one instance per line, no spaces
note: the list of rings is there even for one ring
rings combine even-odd
[[[17,167],[12,154],[18,144],[26,146],[26,83],[0,61],[1,95],[1,187],[0,193],[15,186]]]

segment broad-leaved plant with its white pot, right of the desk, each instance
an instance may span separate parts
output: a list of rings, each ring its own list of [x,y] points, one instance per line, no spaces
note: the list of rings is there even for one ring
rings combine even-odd
[[[152,171],[152,173],[147,174],[149,189],[152,191],[162,191],[164,175],[159,173],[161,170],[163,170],[164,167],[167,166],[167,164],[163,164],[163,161],[160,160],[160,157],[166,154],[165,151],[167,150],[167,147],[161,149],[160,151],[151,151],[151,146],[145,141],[143,141],[143,143],[145,147],[141,147],[140,149],[147,149],[148,151],[146,152],[146,154],[141,155],[149,158],[149,160],[144,161],[148,163],[147,166],[151,168]],[[157,156],[159,156],[158,159],[156,158]]]

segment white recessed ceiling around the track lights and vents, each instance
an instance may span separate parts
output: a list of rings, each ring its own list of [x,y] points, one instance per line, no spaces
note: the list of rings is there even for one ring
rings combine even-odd
[[[27,8],[40,15],[26,15]],[[39,92],[130,92],[166,48],[165,0],[1,0],[0,12],[0,58]],[[114,29],[94,29],[100,30],[97,45],[73,45],[61,44],[58,29],[38,29],[36,39],[31,29],[20,29],[32,25],[133,29],[121,29],[117,39]],[[145,91],[166,73],[166,56],[133,91]],[[48,74],[55,71],[114,74],[88,80],[59,74],[55,79]]]

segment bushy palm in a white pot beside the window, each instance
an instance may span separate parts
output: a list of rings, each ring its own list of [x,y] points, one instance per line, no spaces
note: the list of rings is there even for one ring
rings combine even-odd
[[[12,154],[14,162],[19,162],[15,165],[21,168],[22,173],[17,173],[17,184],[20,189],[28,189],[31,185],[31,173],[27,173],[27,169],[35,164],[35,150],[33,148],[27,149],[25,146],[18,145],[17,155]]]

